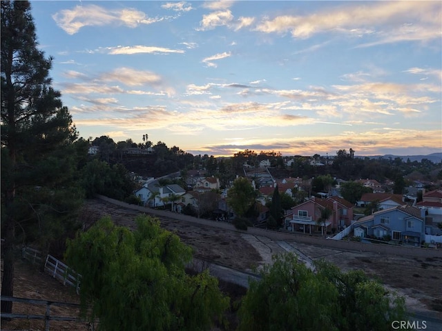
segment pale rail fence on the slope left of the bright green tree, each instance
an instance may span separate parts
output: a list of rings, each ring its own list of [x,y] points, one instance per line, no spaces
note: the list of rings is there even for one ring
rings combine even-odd
[[[41,252],[33,248],[25,247],[21,250],[21,254],[24,259],[34,264],[40,264],[42,262]],[[52,255],[48,254],[44,263],[44,271],[50,274],[55,279],[61,281],[63,285],[70,285],[75,288],[77,294],[79,293],[79,285],[81,281],[81,274],[75,272],[69,268],[68,265],[55,259]]]

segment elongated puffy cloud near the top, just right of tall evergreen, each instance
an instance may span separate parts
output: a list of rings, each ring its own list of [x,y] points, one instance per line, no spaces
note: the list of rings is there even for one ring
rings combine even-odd
[[[85,26],[123,25],[136,28],[140,24],[151,24],[162,21],[164,17],[149,18],[132,8],[107,10],[96,5],[75,6],[72,10],[60,10],[52,15],[57,26],[68,34],[75,34]]]

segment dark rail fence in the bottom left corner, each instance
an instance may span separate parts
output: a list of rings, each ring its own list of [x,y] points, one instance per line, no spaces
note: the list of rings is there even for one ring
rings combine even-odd
[[[10,319],[44,319],[45,330],[50,330],[50,321],[73,321],[73,322],[85,322],[84,319],[80,319],[79,317],[63,317],[63,316],[51,316],[50,315],[50,307],[54,306],[64,306],[64,307],[73,307],[80,308],[78,303],[68,303],[68,302],[58,302],[58,301],[48,301],[41,299],[26,299],[26,298],[17,298],[17,297],[6,297],[1,296],[1,301],[12,301],[19,303],[27,303],[30,305],[46,305],[46,313],[43,314],[18,314],[18,313],[1,313],[1,317],[10,318]],[[89,323],[89,330],[94,330],[95,323]]]

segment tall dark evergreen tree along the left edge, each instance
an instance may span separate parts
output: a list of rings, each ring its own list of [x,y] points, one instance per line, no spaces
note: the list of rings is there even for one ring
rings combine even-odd
[[[2,296],[13,295],[17,236],[35,235],[48,248],[50,237],[72,225],[82,197],[70,182],[77,132],[51,87],[52,58],[37,46],[30,3],[1,1]],[[11,311],[1,301],[1,312]]]

